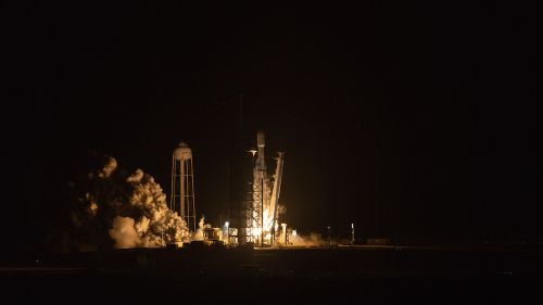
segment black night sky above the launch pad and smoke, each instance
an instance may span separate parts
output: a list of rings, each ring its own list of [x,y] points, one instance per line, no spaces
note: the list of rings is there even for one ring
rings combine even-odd
[[[38,247],[93,154],[167,192],[180,140],[218,226],[239,93],[299,231],[543,240],[536,10],[380,2],[8,5],[4,244]]]

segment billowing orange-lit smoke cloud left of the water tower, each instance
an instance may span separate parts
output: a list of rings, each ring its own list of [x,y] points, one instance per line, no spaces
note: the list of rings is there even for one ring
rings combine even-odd
[[[190,239],[161,186],[143,170],[118,173],[116,160],[109,156],[88,175],[87,185],[90,190],[78,196],[71,215],[79,245],[108,247],[114,241],[117,249],[161,246]]]

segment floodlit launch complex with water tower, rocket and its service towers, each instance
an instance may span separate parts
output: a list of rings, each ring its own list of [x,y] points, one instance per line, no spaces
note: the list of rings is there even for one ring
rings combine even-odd
[[[206,242],[228,246],[283,246],[289,244],[289,236],[295,236],[295,231],[287,230],[287,224],[279,227],[278,219],[285,153],[277,153],[274,175],[269,175],[265,148],[265,135],[261,130],[256,135],[256,148],[245,149],[242,158],[235,157],[233,167],[238,170],[232,171],[238,176],[230,179],[233,189],[230,219],[224,228],[198,228],[203,230]],[[169,208],[180,215],[192,233],[197,231],[193,177],[192,151],[181,142],[172,156]]]

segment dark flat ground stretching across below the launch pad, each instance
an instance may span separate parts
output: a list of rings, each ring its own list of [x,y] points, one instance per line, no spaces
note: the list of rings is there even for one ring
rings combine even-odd
[[[10,303],[535,304],[542,258],[495,247],[128,250],[40,257],[0,277]]]

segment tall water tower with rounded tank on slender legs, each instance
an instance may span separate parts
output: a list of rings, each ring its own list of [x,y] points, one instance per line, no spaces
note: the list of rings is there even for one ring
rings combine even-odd
[[[192,151],[185,142],[180,142],[172,155],[169,208],[181,216],[190,231],[197,230]]]

